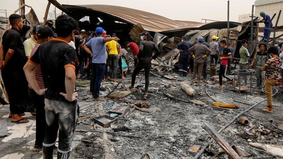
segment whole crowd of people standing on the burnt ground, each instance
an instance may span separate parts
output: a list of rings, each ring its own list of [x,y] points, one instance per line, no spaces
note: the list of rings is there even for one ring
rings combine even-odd
[[[36,114],[36,140],[33,150],[42,150],[43,158],[52,158],[55,154],[58,158],[69,158],[79,116],[76,79],[90,79],[93,100],[106,100],[99,93],[105,90],[101,87],[101,82],[116,81],[118,67],[121,74],[118,78],[125,78],[123,63],[129,66],[128,52],[122,49],[115,33],[111,37],[101,27],[92,32],[80,31],[77,21],[65,14],[56,19],[56,33],[47,26],[36,25],[32,29],[32,36],[24,42],[20,37],[23,19],[18,14],[12,14],[9,21],[12,28],[2,37],[0,69],[10,101],[11,122],[29,122],[21,116],[30,107]],[[139,46],[134,42],[125,43],[134,55],[135,66],[129,88],[135,89],[136,76],[144,69],[144,97],[147,97],[151,61],[159,56],[160,50],[149,40],[149,32],[140,33],[140,38]],[[248,67],[256,63],[257,87],[265,87],[268,98],[268,109],[264,111],[273,112],[272,87],[279,79],[280,68],[281,74],[283,73],[283,53],[276,46],[278,42],[268,50],[262,43],[258,45],[260,51],[248,65],[250,54],[246,48],[247,43],[246,40],[242,41],[239,69],[248,70]],[[227,46],[225,40],[219,41],[219,37],[212,36],[212,42],[206,43],[205,37],[199,37],[194,39],[194,43],[190,43],[183,36],[177,46],[180,51],[179,76],[186,77],[189,68],[191,85],[197,76],[196,85],[202,86],[201,81],[207,76],[209,56],[210,64],[220,63],[217,87],[222,88],[223,77],[235,85],[234,79],[227,76],[231,74],[233,48]],[[129,67],[127,71],[130,72]],[[55,142],[58,130],[57,148]]]

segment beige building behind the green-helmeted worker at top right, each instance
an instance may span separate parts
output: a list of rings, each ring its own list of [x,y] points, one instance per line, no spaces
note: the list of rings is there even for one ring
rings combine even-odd
[[[273,26],[275,26],[279,10],[281,11],[281,15],[278,21],[277,26],[283,25],[283,0],[256,0],[255,1],[255,17],[260,17],[260,12],[265,12],[268,14],[270,18],[272,18],[273,14],[276,13],[274,19],[272,20]],[[260,17],[262,20],[262,17]],[[260,23],[260,27],[264,27],[264,23]],[[282,32],[276,32],[276,36],[283,34]],[[263,36],[263,33],[259,33],[259,35]],[[273,37],[273,32],[271,32],[270,37]]]

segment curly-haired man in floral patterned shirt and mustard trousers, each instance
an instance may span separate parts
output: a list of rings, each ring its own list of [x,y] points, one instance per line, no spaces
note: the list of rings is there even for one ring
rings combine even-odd
[[[269,58],[262,68],[265,73],[265,94],[267,96],[267,107],[263,111],[273,113],[272,109],[272,87],[276,84],[279,79],[280,66],[282,60],[278,57],[278,49],[275,46],[271,46],[268,49]]]

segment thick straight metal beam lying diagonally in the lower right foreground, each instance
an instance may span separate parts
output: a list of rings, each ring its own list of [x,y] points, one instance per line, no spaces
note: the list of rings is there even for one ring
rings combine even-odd
[[[233,150],[233,148],[222,138],[222,136],[214,129],[214,127],[208,122],[202,124],[202,128],[208,132],[208,134],[217,142],[217,144],[224,150],[229,158],[241,159],[241,157]]]

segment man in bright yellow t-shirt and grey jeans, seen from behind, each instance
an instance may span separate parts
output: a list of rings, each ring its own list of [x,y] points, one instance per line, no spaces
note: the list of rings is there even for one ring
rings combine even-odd
[[[112,37],[116,37],[116,34],[113,33]],[[117,65],[118,65],[118,48],[119,45],[117,41],[109,41],[106,42],[106,51],[109,54],[108,56],[108,61],[109,61],[109,76],[110,76],[110,81],[116,81],[116,74],[117,74]]]

